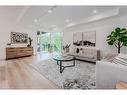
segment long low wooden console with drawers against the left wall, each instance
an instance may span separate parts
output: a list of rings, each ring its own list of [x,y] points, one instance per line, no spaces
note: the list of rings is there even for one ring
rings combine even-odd
[[[8,47],[6,59],[19,58],[33,55],[33,47]]]

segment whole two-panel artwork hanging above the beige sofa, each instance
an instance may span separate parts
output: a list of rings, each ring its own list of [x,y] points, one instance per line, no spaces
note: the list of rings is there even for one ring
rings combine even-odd
[[[73,35],[73,45],[95,47],[96,45],[96,32],[77,32]]]

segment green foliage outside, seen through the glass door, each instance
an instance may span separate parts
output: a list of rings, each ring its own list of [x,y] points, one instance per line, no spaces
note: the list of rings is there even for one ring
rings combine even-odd
[[[51,36],[51,40],[50,40]],[[41,44],[42,51],[60,51],[61,50],[61,35],[57,33],[43,33],[38,35],[39,43]]]

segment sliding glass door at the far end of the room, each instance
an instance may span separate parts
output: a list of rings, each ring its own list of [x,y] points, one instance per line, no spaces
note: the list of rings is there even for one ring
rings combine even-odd
[[[61,33],[60,32],[40,32],[38,34],[38,52],[60,52]]]

